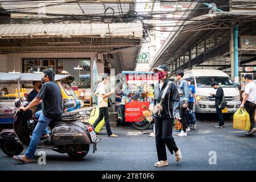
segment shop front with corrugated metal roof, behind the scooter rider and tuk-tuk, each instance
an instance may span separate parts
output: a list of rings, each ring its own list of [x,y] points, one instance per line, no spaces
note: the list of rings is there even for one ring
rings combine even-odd
[[[142,36],[141,23],[0,24],[0,72],[69,73],[89,106],[98,81],[93,65],[98,74],[135,69]]]

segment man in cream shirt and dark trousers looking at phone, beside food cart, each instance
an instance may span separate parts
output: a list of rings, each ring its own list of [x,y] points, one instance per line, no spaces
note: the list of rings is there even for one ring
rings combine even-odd
[[[102,82],[98,84],[98,88],[95,92],[96,96],[98,96],[98,108],[100,110],[98,118],[93,123],[93,127],[96,128],[98,123],[104,118],[106,124],[106,130],[109,137],[118,137],[113,134],[109,124],[109,108],[108,108],[108,97],[115,92],[115,89],[111,90],[111,92],[107,93],[105,84],[109,83],[109,75],[104,73],[102,76]]]

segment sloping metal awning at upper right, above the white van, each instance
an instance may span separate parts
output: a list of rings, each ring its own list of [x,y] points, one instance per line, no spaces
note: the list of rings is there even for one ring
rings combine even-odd
[[[191,46],[195,45],[199,40],[207,37],[207,35],[211,34],[211,32],[218,28],[214,23],[210,23],[213,15],[207,14],[205,11],[209,10],[204,8],[202,3],[197,3],[195,7],[191,6],[190,11],[186,11],[186,13],[188,13],[187,19],[190,19],[191,21],[180,20],[177,23],[174,31],[170,33],[166,42],[164,42],[163,46],[156,53],[154,60],[150,63],[150,70],[160,64],[166,64],[167,62],[170,63],[170,61],[175,60],[176,57],[188,51]],[[185,18],[185,13],[183,16]],[[222,16],[214,17],[215,20],[222,19]],[[205,22],[204,25],[201,26],[201,30],[199,26],[196,26],[196,22],[198,20],[204,20]],[[221,26],[224,25],[221,24]],[[230,27],[219,28],[226,28],[226,30],[229,30]]]

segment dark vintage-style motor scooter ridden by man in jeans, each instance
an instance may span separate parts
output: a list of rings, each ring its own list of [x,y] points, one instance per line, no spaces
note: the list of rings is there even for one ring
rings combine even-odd
[[[15,107],[27,106],[28,102],[20,98]],[[74,102],[67,102],[65,107],[72,107]],[[93,144],[93,153],[97,150],[94,128],[88,122],[94,107],[84,107],[69,113],[63,113],[49,123],[50,137],[41,139],[38,148],[51,149],[60,154],[67,153],[71,158],[84,158],[89,152],[89,144]],[[94,109],[95,110],[95,109]],[[33,111],[16,111],[13,129],[2,130],[0,133],[2,151],[8,156],[19,155],[24,147],[28,147],[35,129],[36,119],[32,119]]]

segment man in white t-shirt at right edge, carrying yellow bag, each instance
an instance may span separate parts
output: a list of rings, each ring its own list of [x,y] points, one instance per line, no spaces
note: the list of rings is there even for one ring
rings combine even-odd
[[[245,110],[250,115],[250,131],[245,133],[245,135],[254,136],[254,133],[256,132],[254,121],[254,115],[256,110],[256,84],[255,82],[253,82],[253,77],[251,75],[245,75],[245,81],[247,84],[245,86],[245,94],[240,107],[245,107]]]

